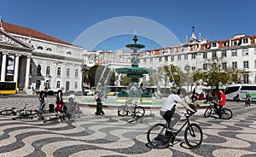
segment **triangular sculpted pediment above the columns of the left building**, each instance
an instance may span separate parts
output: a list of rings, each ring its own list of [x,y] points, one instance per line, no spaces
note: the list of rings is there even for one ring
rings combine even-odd
[[[15,38],[9,32],[0,29],[0,47],[5,49],[22,49],[32,51],[32,46],[22,42],[20,39]]]

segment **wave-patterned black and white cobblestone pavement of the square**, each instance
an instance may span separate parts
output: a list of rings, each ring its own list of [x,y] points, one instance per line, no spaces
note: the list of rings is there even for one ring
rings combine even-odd
[[[37,108],[35,98],[0,98],[0,110],[20,107]],[[82,108],[79,119],[64,123],[43,123],[38,119],[12,120],[12,116],[0,116],[0,156],[255,156],[256,155],[256,107],[227,102],[233,118],[218,120],[203,118],[200,109],[191,121],[201,125],[204,133],[201,148],[189,149],[183,142],[183,132],[173,147],[154,149],[148,147],[148,127],[160,119],[157,110],[137,122],[128,123],[130,117],[117,116],[116,109],[105,109],[106,116],[98,117],[95,108]],[[32,105],[33,104],[33,105]]]

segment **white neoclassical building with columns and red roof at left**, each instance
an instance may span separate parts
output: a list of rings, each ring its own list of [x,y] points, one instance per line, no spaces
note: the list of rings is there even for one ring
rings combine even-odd
[[[1,81],[17,82],[26,92],[82,90],[84,53],[79,46],[0,19]]]

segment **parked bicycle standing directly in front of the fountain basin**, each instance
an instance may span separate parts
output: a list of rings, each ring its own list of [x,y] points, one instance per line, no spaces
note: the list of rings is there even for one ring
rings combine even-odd
[[[126,101],[125,105],[120,106],[118,108],[118,115],[119,116],[128,116],[131,115],[132,117],[143,117],[145,114],[145,109],[142,106],[138,106],[137,102],[129,102]]]

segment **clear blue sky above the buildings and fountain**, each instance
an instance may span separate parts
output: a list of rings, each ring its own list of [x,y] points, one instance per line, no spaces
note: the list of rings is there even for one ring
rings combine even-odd
[[[155,21],[172,32],[180,42],[185,40],[186,35],[190,37],[192,26],[195,26],[197,36],[201,32],[203,38],[213,41],[231,38],[240,33],[255,35],[255,7],[254,0],[2,0],[0,16],[5,22],[26,26],[69,43],[74,43],[88,28],[123,16]],[[151,30],[151,38],[140,37],[143,27],[146,29],[148,26],[132,28],[137,29],[139,43],[145,44],[145,49],[162,46],[158,43],[159,38],[152,38],[158,36],[160,30]],[[102,27],[101,31],[105,30]],[[96,39],[102,32],[95,31],[83,40]],[[131,43],[133,32],[125,33],[127,32],[102,38],[90,50],[123,49],[125,44]],[[80,46],[86,49],[88,45]]]

